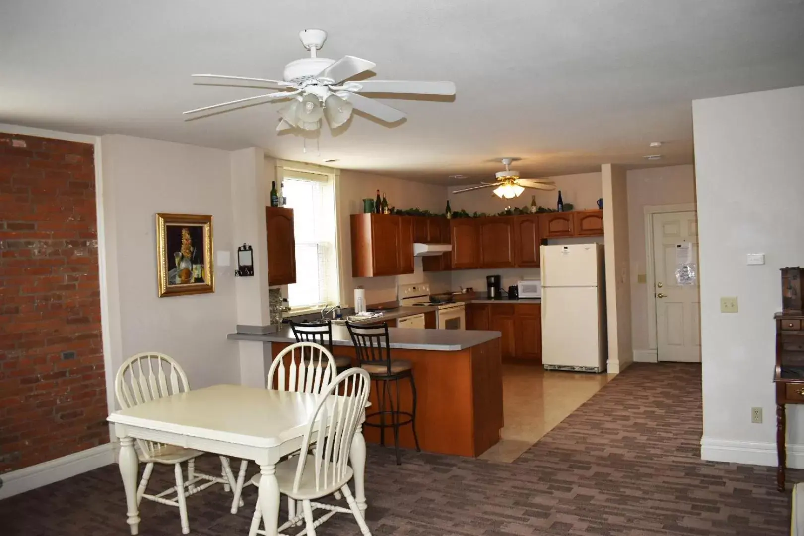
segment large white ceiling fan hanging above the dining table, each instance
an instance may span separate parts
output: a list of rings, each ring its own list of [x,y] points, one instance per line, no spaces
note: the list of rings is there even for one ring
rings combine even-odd
[[[195,108],[184,114],[202,113],[227,106],[230,108],[219,111],[228,112],[247,103],[264,104],[275,100],[292,99],[287,106],[279,110],[281,120],[277,130],[293,127],[315,130],[320,128],[322,117],[326,117],[330,129],[334,129],[348,121],[353,108],[389,123],[405,117],[404,112],[363,96],[364,93],[455,94],[455,84],[452,82],[349,81],[360,73],[373,69],[375,63],[353,55],[345,55],[337,61],[319,58],[317,51],[326,41],[326,31],[323,30],[303,30],[299,32],[299,38],[305,48],[310,51],[310,57],[296,59],[285,65],[284,80],[266,80],[246,76],[193,75],[196,78],[258,82],[268,87],[280,88],[281,91]]]

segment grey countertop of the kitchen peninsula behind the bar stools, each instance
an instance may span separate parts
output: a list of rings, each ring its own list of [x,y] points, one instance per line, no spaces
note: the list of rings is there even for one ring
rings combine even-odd
[[[429,308],[412,307],[408,309]],[[410,316],[410,313],[406,313],[406,315],[403,316]],[[500,332],[479,331],[474,329],[388,328],[388,337],[391,340],[392,348],[456,352],[458,350],[466,350],[467,348],[478,346],[484,342],[489,342],[500,338]],[[256,335],[251,333],[229,333],[228,339],[234,341],[296,342],[296,338],[293,337],[293,331],[288,325],[282,325],[279,331],[276,333],[267,333],[264,335]],[[332,346],[354,346],[346,326],[332,326]]]

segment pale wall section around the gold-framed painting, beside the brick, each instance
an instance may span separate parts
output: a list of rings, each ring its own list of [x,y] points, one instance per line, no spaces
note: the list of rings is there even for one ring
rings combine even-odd
[[[175,358],[193,388],[239,383],[234,267],[217,265],[232,240],[229,153],[137,137],[101,138],[105,263],[113,370],[157,351]],[[157,297],[157,212],[213,217],[215,293]]]

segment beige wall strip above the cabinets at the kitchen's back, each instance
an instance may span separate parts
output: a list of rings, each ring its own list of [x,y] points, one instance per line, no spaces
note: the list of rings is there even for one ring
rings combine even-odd
[[[452,193],[453,190],[476,185],[447,186],[446,190],[452,210],[464,210],[470,214],[473,212],[497,214],[504,211],[506,207],[530,206],[531,195],[535,196],[539,207],[556,208],[558,190],[561,190],[561,198],[564,203],[572,203],[575,210],[597,208],[597,199],[602,197],[600,173],[562,175],[560,177],[550,177],[550,179],[556,182],[556,190],[531,190],[528,188],[519,198],[514,199],[498,198],[491,191],[494,188],[472,190],[462,194]],[[486,182],[491,182],[492,180],[493,178],[490,178]],[[441,211],[443,210],[441,208]]]

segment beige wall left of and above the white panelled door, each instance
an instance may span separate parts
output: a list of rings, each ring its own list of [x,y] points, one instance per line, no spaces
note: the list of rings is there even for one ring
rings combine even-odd
[[[645,207],[695,203],[695,166],[630,170],[628,182],[628,243],[631,263],[631,340],[634,350],[647,350],[647,289],[637,282],[646,272]]]

